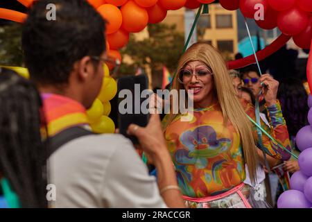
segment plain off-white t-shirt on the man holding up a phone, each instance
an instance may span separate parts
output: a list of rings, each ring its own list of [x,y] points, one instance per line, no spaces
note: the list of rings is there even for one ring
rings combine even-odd
[[[155,177],[122,135],[87,135],[49,158],[52,207],[166,207]]]

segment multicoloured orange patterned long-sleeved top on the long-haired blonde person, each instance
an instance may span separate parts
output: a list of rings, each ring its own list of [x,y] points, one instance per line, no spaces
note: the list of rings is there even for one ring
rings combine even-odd
[[[255,120],[254,107],[241,101],[246,114]],[[267,107],[270,127],[261,126],[272,137],[291,151],[288,130],[279,103]],[[221,194],[245,180],[245,162],[239,133],[232,123],[223,123],[218,103],[194,110],[191,121],[180,121],[178,115],[166,128],[165,137],[177,172],[182,194],[202,198]],[[166,121],[166,118],[164,119]],[[253,126],[254,139],[257,128]],[[279,160],[290,155],[262,135],[264,150]]]

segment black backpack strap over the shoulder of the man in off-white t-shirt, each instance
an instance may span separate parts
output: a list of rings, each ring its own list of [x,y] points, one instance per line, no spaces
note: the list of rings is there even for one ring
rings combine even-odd
[[[48,158],[58,150],[62,145],[70,142],[73,139],[77,139],[79,137],[84,137],[87,135],[95,135],[95,133],[92,133],[89,130],[86,130],[83,127],[80,126],[74,126],[71,128],[67,128],[66,130],[63,130],[62,132],[54,135],[53,137],[49,138],[49,148],[48,148]]]

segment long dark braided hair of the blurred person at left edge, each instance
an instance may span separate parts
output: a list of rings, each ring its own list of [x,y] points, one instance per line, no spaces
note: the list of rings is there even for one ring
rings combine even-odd
[[[0,173],[21,207],[47,207],[42,101],[29,80],[0,68]]]

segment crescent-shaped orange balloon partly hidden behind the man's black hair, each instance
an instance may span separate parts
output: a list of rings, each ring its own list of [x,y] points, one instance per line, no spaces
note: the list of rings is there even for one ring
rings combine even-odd
[[[107,20],[106,33],[112,34],[119,30],[123,23],[123,17],[119,8],[111,4],[104,4],[98,7],[98,12]]]

